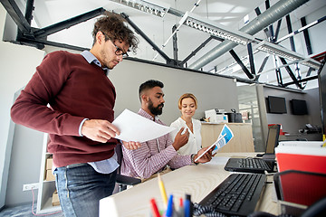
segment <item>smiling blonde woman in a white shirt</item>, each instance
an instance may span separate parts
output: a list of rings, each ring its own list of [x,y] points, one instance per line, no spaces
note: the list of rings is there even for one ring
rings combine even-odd
[[[177,129],[170,135],[174,139],[180,128],[185,127],[185,130],[187,129],[189,132],[189,138],[187,144],[180,147],[178,153],[180,155],[196,154],[201,149],[201,123],[193,118],[197,109],[197,99],[193,94],[185,93],[178,100],[177,106],[181,112],[181,117],[171,124],[171,127]]]

